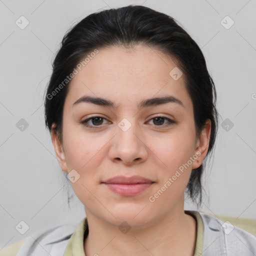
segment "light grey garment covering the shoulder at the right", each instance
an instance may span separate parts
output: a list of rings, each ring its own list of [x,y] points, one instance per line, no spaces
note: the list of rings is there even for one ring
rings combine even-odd
[[[212,255],[256,255],[256,236],[208,213],[198,212],[203,222],[203,251]],[[219,253],[219,254],[218,254]]]

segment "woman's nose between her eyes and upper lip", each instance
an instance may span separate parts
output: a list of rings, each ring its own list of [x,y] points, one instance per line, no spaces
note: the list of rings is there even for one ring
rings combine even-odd
[[[108,152],[112,161],[122,161],[125,165],[138,164],[148,156],[148,148],[143,141],[141,130],[134,123],[130,125],[127,130],[121,125],[116,127],[117,134],[111,139]]]

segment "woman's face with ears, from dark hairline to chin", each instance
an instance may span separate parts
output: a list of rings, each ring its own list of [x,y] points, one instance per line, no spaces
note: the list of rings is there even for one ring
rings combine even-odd
[[[173,68],[173,59],[156,49],[112,46],[99,49],[71,80],[63,150],[54,133],[52,141],[62,170],[72,170],[70,183],[87,216],[142,226],[183,210],[184,189],[207,152],[210,130],[196,138],[184,75],[169,74]],[[120,175],[147,180],[105,183]]]

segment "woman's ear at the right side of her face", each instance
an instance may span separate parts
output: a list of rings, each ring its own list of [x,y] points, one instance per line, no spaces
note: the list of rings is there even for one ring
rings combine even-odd
[[[192,169],[198,168],[201,165],[202,160],[207,154],[208,147],[209,147],[209,139],[210,139],[210,127],[211,127],[211,121],[210,119],[207,119],[202,128],[200,137],[197,138],[196,140],[194,154],[197,155],[198,157],[195,161],[193,161]],[[199,161],[199,163],[197,162],[197,160]]]

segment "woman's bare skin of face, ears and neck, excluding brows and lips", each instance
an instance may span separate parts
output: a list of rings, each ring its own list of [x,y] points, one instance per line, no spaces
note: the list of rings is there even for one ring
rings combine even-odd
[[[193,106],[185,88],[184,74],[174,80],[169,72],[177,64],[156,49],[137,45],[99,49],[69,84],[63,108],[63,144],[54,130],[51,138],[62,170],[75,169],[80,177],[70,182],[84,204],[89,233],[84,241],[86,256],[94,255],[193,255],[196,221],[184,213],[184,189],[192,168],[205,157],[210,135],[207,120],[196,137]],[[117,107],[82,102],[81,96],[98,96]],[[138,102],[151,97],[172,95],[183,106],[169,102],[142,109]],[[105,119],[86,127],[89,117]],[[157,125],[156,116],[166,119]],[[118,127],[126,118],[127,131]],[[165,127],[163,127],[165,125]],[[189,157],[200,152],[185,171],[154,202],[149,196],[172,177]],[[114,193],[103,183],[116,175],[141,175],[154,183],[133,196]],[[131,229],[122,233],[126,221]]]

